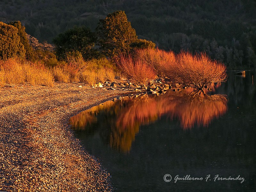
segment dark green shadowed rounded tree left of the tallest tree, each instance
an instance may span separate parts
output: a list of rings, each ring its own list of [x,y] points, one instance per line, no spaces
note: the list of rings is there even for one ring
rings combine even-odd
[[[93,49],[96,42],[95,34],[86,27],[75,27],[59,34],[53,39],[56,45],[56,55],[65,59],[67,52],[81,52],[84,59],[92,59],[98,56]]]

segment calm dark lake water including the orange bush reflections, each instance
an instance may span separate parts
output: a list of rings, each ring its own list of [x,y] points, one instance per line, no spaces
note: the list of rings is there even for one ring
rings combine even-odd
[[[256,76],[253,84],[253,72],[228,75],[205,97],[172,91],[127,97],[70,123],[112,175],[115,191],[255,191]],[[177,175],[202,180],[175,183]],[[214,181],[216,175],[238,180]]]

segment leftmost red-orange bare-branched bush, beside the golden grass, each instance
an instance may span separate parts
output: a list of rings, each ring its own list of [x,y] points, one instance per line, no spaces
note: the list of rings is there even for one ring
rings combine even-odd
[[[136,83],[142,83],[147,85],[150,80],[156,78],[156,73],[153,67],[143,62],[140,58],[132,58],[130,54],[128,56],[120,55],[117,62],[117,66],[131,81]]]

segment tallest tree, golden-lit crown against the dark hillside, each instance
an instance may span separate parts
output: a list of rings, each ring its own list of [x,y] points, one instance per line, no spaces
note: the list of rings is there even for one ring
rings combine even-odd
[[[124,11],[109,13],[96,28],[100,50],[107,57],[115,58],[130,51],[130,44],[137,40],[135,29]]]

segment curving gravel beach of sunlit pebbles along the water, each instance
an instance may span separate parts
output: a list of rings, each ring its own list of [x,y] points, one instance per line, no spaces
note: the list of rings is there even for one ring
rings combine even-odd
[[[111,191],[68,119],[128,92],[82,83],[0,88],[0,191]]]

